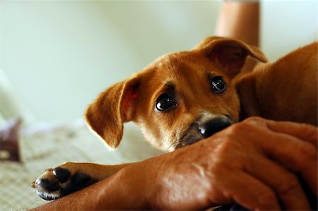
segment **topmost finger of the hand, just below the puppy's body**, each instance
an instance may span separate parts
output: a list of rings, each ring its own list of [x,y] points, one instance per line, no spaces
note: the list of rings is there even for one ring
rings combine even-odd
[[[292,135],[301,140],[307,140],[317,147],[318,128],[315,126],[290,121],[266,121],[266,125],[272,131]]]

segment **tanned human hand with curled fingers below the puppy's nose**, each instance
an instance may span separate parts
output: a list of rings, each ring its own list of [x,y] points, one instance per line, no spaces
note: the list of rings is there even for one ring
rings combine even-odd
[[[155,209],[236,202],[252,210],[310,210],[294,173],[317,196],[317,128],[253,117],[141,163],[143,193]]]

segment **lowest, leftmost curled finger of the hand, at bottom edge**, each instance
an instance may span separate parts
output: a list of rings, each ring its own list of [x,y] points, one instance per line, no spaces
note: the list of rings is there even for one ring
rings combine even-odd
[[[281,210],[276,193],[245,172],[228,176],[220,185],[224,195],[250,210]]]

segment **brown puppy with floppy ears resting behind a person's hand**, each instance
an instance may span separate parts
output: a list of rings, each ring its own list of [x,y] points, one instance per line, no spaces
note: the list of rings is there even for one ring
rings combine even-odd
[[[247,56],[266,61],[256,47],[208,37],[192,51],[162,56],[112,85],[88,107],[86,121],[110,147],[119,145],[124,122],[134,121],[148,141],[167,151],[207,138],[248,116],[317,126],[317,43],[239,74]],[[33,188],[52,200],[126,165],[67,162],[48,169]]]

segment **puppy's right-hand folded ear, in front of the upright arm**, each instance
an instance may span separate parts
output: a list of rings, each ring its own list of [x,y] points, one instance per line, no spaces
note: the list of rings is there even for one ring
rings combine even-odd
[[[195,49],[203,52],[208,59],[220,64],[223,71],[230,77],[240,73],[248,55],[258,61],[267,61],[259,48],[230,38],[207,37]]]

